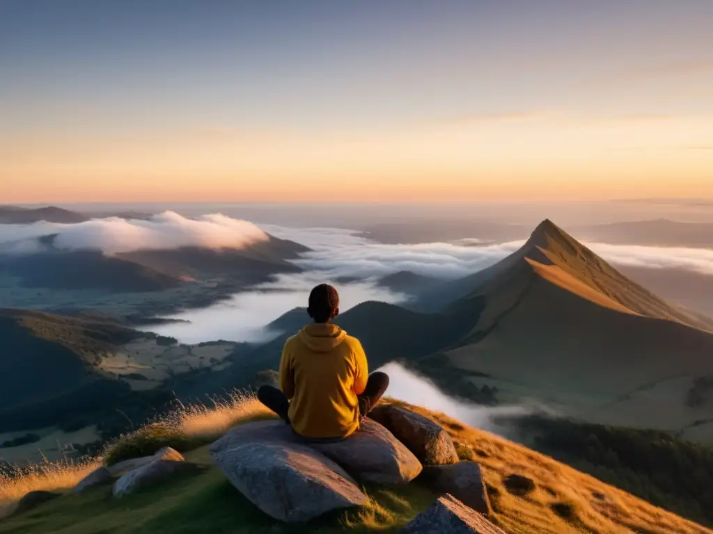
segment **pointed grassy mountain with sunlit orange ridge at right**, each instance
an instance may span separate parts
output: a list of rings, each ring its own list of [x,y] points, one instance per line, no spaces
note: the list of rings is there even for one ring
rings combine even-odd
[[[685,433],[713,419],[708,394],[687,402],[713,375],[710,320],[633,283],[550,221],[468,283],[444,313],[477,315],[475,326],[420,360],[424,372],[471,373],[503,402],[536,398],[590,422]]]

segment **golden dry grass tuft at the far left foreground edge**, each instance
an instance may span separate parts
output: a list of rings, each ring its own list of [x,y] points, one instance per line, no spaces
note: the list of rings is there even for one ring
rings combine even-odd
[[[73,488],[82,478],[101,466],[101,459],[44,461],[0,472],[0,518],[14,510],[15,504],[31,491],[61,491]]]

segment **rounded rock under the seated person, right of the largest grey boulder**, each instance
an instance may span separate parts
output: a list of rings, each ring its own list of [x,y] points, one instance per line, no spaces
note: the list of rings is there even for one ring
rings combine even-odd
[[[309,444],[363,482],[406,484],[421,473],[421,462],[388,430],[364,419],[344,441]]]

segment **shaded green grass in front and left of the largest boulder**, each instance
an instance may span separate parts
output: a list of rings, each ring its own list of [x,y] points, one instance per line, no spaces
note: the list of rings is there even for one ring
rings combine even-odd
[[[197,476],[155,486],[141,493],[111,498],[111,488],[50,501],[16,518],[0,522],[2,533],[53,534],[188,534],[196,532],[269,533],[276,522],[259,511],[210,464],[207,446],[185,455],[208,466]],[[284,525],[284,533],[395,532],[433,501],[421,486],[398,491],[364,488],[366,506],[329,514],[304,525]],[[91,511],[91,513],[88,513]]]

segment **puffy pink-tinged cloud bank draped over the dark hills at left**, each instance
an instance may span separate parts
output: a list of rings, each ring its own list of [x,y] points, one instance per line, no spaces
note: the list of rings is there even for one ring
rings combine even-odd
[[[210,248],[242,248],[267,235],[248,221],[221,214],[202,215],[188,219],[173,211],[165,211],[148,221],[137,219],[91,219],[78,224],[0,225],[0,250],[36,251],[36,238],[57,234],[60,248],[94,248],[106,253],[135,251],[142,248],[178,248],[205,246]]]

